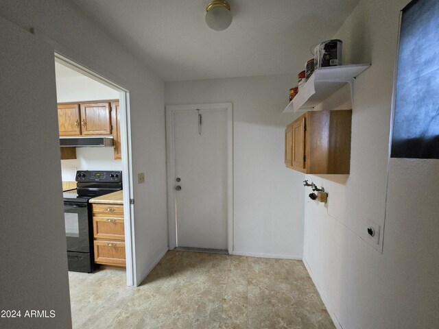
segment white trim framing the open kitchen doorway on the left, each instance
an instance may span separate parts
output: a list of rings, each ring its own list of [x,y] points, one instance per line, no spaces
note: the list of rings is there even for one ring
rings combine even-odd
[[[137,287],[138,282],[136,271],[136,250],[134,240],[134,203],[130,200],[134,195],[134,184],[132,180],[132,147],[131,147],[131,125],[130,125],[130,92],[128,89],[115,84],[99,73],[95,73],[78,62],[66,58],[55,52],[55,61],[89,77],[100,84],[119,91],[119,111],[121,120],[121,161],[122,161],[122,184],[123,184],[123,217],[125,229],[125,258],[126,258],[126,284],[130,287]],[[128,220],[127,220],[128,219]],[[142,278],[140,278],[142,279]]]

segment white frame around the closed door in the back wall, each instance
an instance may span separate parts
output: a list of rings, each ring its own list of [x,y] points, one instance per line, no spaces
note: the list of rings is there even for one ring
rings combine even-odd
[[[174,113],[200,110],[227,110],[227,249],[233,252],[233,103],[204,103],[166,106],[166,156],[167,156],[167,214],[169,249],[177,245],[175,161],[174,161]]]

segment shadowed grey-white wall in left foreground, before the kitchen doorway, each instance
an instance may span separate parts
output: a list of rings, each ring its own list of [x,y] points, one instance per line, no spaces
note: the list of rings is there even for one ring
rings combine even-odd
[[[0,43],[0,328],[71,328],[53,50],[1,16]]]

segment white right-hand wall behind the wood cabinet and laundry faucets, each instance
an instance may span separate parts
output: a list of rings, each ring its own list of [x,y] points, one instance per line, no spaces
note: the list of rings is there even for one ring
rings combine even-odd
[[[338,328],[439,324],[439,160],[390,159],[385,200],[399,11],[408,2],[363,0],[334,36],[346,62],[372,63],[355,82],[351,175],[309,175],[329,202],[305,201],[304,261]],[[364,241],[367,220],[385,224],[382,254]]]

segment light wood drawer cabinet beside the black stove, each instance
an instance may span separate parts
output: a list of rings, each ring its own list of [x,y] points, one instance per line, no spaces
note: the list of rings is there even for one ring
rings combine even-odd
[[[126,267],[123,205],[93,204],[95,263]]]

